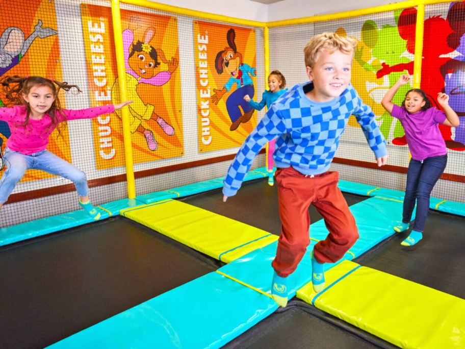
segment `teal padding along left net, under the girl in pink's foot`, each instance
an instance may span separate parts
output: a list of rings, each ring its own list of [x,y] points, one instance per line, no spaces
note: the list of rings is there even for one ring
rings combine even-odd
[[[136,200],[118,200],[97,206],[100,220],[118,215],[125,208],[142,205]],[[40,218],[16,226],[0,229],[0,246],[32,239],[41,235],[55,233],[61,230],[82,226],[95,220],[85,210],[62,213],[56,216]]]

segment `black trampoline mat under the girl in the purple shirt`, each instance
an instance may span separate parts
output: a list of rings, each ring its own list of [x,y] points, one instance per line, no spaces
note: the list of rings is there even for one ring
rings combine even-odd
[[[396,233],[354,262],[465,299],[464,228],[465,217],[430,210],[416,245],[400,244],[409,231]]]

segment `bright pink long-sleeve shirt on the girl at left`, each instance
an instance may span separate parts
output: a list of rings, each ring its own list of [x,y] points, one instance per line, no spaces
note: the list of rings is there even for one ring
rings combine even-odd
[[[100,106],[81,110],[61,109],[61,116],[57,113],[60,122],[76,119],[90,119],[102,114],[115,111],[113,105]],[[40,120],[29,119],[26,126],[21,126],[26,119],[26,108],[14,106],[13,108],[0,108],[0,120],[6,121],[10,127],[11,136],[7,140],[7,146],[14,152],[31,155],[47,148],[48,136],[56,127],[50,127],[51,119],[48,113]]]

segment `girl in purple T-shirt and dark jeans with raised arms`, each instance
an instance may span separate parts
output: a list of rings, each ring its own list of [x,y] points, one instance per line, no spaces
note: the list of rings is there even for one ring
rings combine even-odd
[[[409,80],[409,76],[403,74],[381,101],[384,109],[402,124],[411,154],[402,222],[394,227],[396,232],[403,232],[410,227],[412,212],[417,202],[414,227],[410,235],[402,241],[404,246],[414,245],[422,239],[431,191],[446,168],[446,143],[437,125],[440,123],[449,127],[459,125],[457,113],[449,106],[449,96],[445,93],[438,93],[437,96],[437,102],[444,112],[431,107],[425,92],[420,89],[408,91],[402,107],[396,106],[392,99],[397,90]]]

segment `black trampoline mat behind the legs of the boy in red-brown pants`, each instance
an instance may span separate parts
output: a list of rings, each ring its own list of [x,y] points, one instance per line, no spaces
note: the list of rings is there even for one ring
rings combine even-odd
[[[276,183],[274,186],[269,186],[267,179],[244,182],[238,193],[228,197],[225,203],[222,201],[221,190],[212,190],[178,200],[275,235],[281,234]],[[355,194],[343,194],[349,206],[368,198]],[[308,212],[312,223],[323,218],[313,205],[310,205]]]

